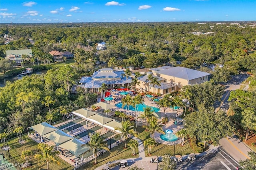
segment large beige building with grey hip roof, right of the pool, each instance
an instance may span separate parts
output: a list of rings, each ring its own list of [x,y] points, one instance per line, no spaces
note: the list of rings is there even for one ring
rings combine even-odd
[[[158,78],[160,86],[153,87],[153,84],[148,81],[148,75]],[[182,86],[200,84],[208,81],[210,74],[193,70],[184,67],[162,66],[157,68],[150,68],[146,75],[138,78],[140,85],[136,88],[141,91],[150,91],[160,94],[167,94],[169,92],[179,91]]]

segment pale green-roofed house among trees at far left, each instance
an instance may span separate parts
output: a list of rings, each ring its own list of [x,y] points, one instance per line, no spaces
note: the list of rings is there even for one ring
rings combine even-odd
[[[22,61],[28,59],[23,58],[24,55],[28,57],[32,57],[32,50],[31,49],[24,49],[24,50],[6,50],[6,57],[5,59],[9,59],[10,61],[15,61],[16,64],[20,65]]]

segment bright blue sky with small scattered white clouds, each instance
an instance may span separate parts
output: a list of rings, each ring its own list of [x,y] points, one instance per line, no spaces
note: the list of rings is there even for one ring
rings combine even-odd
[[[0,23],[256,21],[256,0],[0,0]]]

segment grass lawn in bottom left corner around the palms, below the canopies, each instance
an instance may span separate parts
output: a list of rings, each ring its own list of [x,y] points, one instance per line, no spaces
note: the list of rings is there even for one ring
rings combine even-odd
[[[9,162],[12,163],[25,163],[26,161],[24,159],[22,159],[21,156],[21,152],[24,150],[32,150],[34,152],[34,154],[39,153],[38,149],[37,149],[37,145],[38,143],[36,143],[34,140],[32,140],[30,137],[28,137],[28,135],[22,135],[22,140],[25,140],[26,143],[24,144],[20,144],[18,143],[18,138],[12,138],[10,140],[8,140],[8,145],[11,148],[10,149],[10,156],[11,159],[9,160]],[[5,154],[5,158],[9,158],[8,156],[8,152],[4,152]],[[58,164],[54,164],[52,161],[49,163],[49,169],[51,170],[73,170],[74,166],[71,166],[70,164],[68,164],[68,162],[62,160],[60,157],[56,156],[55,157],[59,162],[60,165]],[[29,170],[39,170],[39,169],[47,169],[47,165],[46,162],[39,162],[37,159],[34,158],[34,156],[31,157],[31,164],[32,166],[30,166],[29,168],[25,168],[25,169],[29,169]]]

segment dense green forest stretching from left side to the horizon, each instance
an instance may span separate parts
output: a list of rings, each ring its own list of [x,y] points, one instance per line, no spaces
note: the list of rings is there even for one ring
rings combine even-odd
[[[6,50],[32,49],[34,57],[27,62],[50,64],[53,62],[50,51],[70,51],[76,64],[54,67],[45,75],[24,77],[0,88],[0,132],[4,129],[12,134],[15,127],[55,121],[73,109],[95,103],[97,94],[69,93],[80,76],[94,71],[92,64],[86,63],[89,59],[108,62],[114,57],[116,65],[147,68],[181,61],[180,66],[212,73],[217,83],[226,82],[239,70],[255,73],[256,27],[248,24],[243,23],[243,27],[213,22],[2,24],[0,57],[6,56]],[[14,39],[6,45],[5,34]],[[96,50],[100,42],[107,43],[106,50]],[[224,67],[212,72],[200,67],[202,63],[224,64]],[[5,72],[3,59],[0,66]]]

